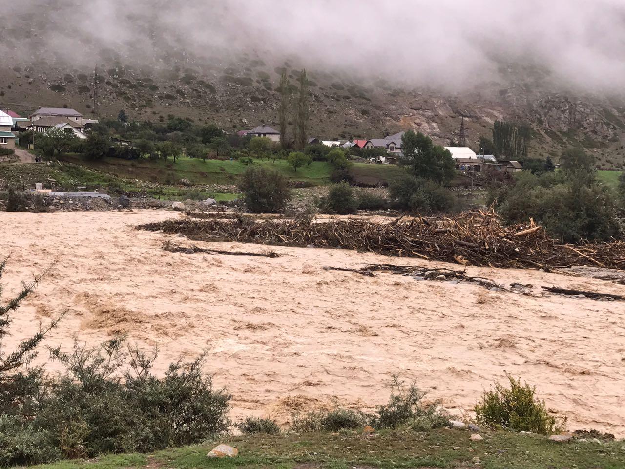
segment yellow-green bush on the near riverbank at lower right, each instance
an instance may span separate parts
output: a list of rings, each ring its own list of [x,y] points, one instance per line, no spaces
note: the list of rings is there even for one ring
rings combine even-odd
[[[510,387],[495,383],[492,391],[484,392],[474,410],[476,421],[492,428],[531,431],[552,435],[563,430],[566,419],[552,416],[544,401],[536,398],[536,388],[507,375]]]

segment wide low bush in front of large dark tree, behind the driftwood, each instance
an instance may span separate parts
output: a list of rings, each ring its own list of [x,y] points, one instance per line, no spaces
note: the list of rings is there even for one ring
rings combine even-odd
[[[449,211],[455,203],[447,189],[411,174],[403,174],[389,184],[389,198],[397,208],[419,214]]]

